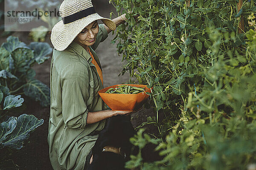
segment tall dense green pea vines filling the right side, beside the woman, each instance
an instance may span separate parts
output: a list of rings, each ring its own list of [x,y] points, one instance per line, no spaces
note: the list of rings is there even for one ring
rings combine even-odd
[[[153,87],[156,116],[131,142],[140,150],[154,143],[164,156],[148,163],[139,152],[126,167],[231,170],[255,163],[255,0],[110,3],[128,18],[113,39],[127,62],[122,73]],[[158,135],[143,135],[140,127],[149,123]]]

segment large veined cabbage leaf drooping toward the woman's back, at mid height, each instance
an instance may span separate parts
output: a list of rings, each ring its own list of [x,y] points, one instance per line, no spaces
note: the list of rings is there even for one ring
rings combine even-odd
[[[24,86],[23,91],[26,96],[40,101],[40,105],[46,107],[50,103],[50,88],[36,79],[31,79]]]

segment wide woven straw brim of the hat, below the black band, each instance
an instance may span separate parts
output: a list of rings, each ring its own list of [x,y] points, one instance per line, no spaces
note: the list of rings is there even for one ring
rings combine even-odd
[[[116,29],[116,24],[109,18],[101,17],[99,14],[94,13],[76,20],[72,23],[63,24],[63,21],[59,21],[52,28],[51,42],[54,48],[58,51],[65,50],[68,45],[76,38],[76,36],[88,26],[90,23],[96,20],[102,20],[102,22],[111,30]]]

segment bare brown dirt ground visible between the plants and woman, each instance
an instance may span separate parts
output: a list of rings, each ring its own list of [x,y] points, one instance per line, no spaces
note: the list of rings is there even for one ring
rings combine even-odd
[[[93,1],[93,4],[96,8],[96,11],[103,17],[109,17],[109,13],[113,11],[115,14],[115,8],[108,3],[108,0],[98,0]],[[99,2],[99,3],[98,3]],[[3,4],[3,3],[2,3]],[[3,6],[2,6],[3,7]],[[112,18],[114,18],[114,14]],[[3,23],[3,21],[1,21]],[[2,33],[1,31],[0,33]],[[19,37],[20,41],[29,44],[31,40],[28,39],[29,32],[14,32],[12,35]],[[118,56],[116,52],[116,45],[111,44],[111,40],[115,37],[116,34],[112,35],[112,32],[109,33],[108,38],[99,44],[99,47],[96,49],[96,53],[99,56],[99,59],[103,68],[103,78],[104,86],[108,87],[115,84],[124,84],[129,83],[129,74],[125,73],[123,76],[118,77],[120,71],[122,71],[121,66],[125,62],[121,62],[122,56]],[[0,38],[0,44],[6,42],[6,37]],[[47,37],[46,42],[51,46],[49,37]],[[49,73],[50,73],[50,61],[47,60],[41,65],[35,65],[33,68],[36,71],[36,79],[44,82],[49,86]],[[135,83],[136,84],[136,83]],[[4,148],[0,150],[1,157],[5,155],[5,159],[13,159],[15,164],[19,165],[20,170],[52,170],[50,161],[49,161],[49,147],[47,144],[47,133],[48,133],[48,121],[49,121],[49,107],[43,108],[38,102],[26,99],[27,108],[24,113],[33,114],[38,119],[44,119],[44,124],[35,129],[31,134],[29,139],[25,140],[23,148],[20,150],[10,150]],[[154,116],[153,109],[141,109],[137,113],[132,114],[131,122],[134,127],[137,127],[142,122],[146,122],[148,116]],[[19,116],[19,115],[10,115],[10,116]],[[147,131],[151,133],[156,133],[156,127],[147,125]],[[157,157],[156,153],[152,153],[154,146],[148,146],[144,154],[147,157],[148,161],[152,161]],[[9,154],[12,153],[12,154]],[[0,159],[1,160],[1,159]]]

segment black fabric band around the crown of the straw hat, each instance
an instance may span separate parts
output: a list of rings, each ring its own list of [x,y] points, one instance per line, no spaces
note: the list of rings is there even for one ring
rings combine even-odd
[[[67,17],[61,17],[61,18],[62,18],[62,21],[64,24],[68,24],[68,23],[72,23],[76,20],[79,20],[83,17],[87,17],[88,15],[94,14],[94,13],[96,13],[94,7],[90,7],[90,8],[84,9],[82,11],[79,11],[75,14],[69,15]]]

